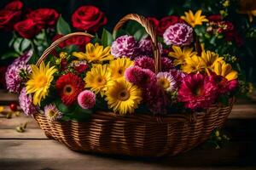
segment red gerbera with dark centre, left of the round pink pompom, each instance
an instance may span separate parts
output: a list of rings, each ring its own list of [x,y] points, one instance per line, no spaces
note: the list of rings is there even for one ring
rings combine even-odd
[[[63,104],[72,105],[84,90],[84,81],[73,73],[67,73],[57,80],[56,88]]]

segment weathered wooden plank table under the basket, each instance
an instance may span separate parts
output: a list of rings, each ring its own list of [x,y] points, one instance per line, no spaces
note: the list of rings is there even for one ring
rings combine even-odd
[[[0,104],[16,100],[0,92]],[[15,127],[28,122],[26,132]],[[230,141],[216,150],[205,143],[187,153],[164,158],[135,158],[74,152],[47,139],[29,116],[6,119],[0,115],[0,169],[256,169],[256,105],[241,101],[235,105],[224,129]]]

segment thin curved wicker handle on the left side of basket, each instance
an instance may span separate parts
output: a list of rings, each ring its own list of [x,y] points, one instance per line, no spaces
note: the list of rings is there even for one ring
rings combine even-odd
[[[74,32],[74,33],[70,33],[70,34],[67,34],[66,36],[63,36],[57,40],[55,40],[55,42],[52,42],[52,44],[46,48],[44,50],[44,53],[41,55],[41,57],[38,59],[38,62],[37,62],[37,66],[39,66],[43,61],[44,59],[47,58],[47,56],[61,43],[61,42],[64,42],[66,41],[67,39],[71,38],[71,37],[77,37],[77,36],[84,36],[84,37],[94,37],[92,35],[90,35],[89,33],[87,32]]]

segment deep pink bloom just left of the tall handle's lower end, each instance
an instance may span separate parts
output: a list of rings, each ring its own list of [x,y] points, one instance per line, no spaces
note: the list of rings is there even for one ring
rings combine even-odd
[[[154,71],[154,59],[149,58],[145,55],[135,59],[134,65],[139,66],[143,69],[149,69],[150,71]]]

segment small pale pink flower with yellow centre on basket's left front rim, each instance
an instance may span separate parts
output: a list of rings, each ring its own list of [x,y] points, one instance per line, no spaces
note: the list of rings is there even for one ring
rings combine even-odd
[[[50,104],[44,107],[44,115],[49,119],[49,121],[56,122],[61,119],[63,114],[56,108],[55,105]]]

